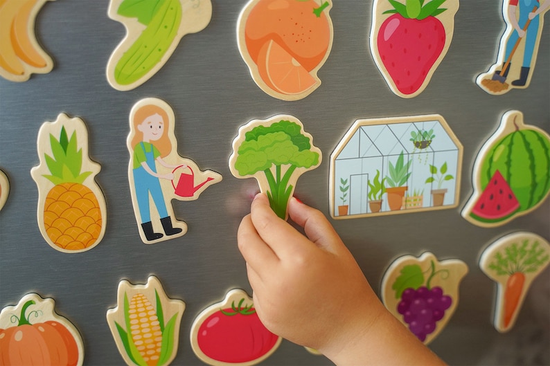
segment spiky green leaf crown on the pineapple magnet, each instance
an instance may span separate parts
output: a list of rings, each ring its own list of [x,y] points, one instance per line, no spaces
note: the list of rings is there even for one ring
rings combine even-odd
[[[44,177],[55,185],[62,183],[82,184],[91,172],[80,172],[82,170],[82,149],[78,149],[76,131],[73,131],[71,138],[69,138],[63,126],[59,140],[53,134],[50,134],[50,145],[53,157],[44,154],[44,158],[51,175],[44,174]]]

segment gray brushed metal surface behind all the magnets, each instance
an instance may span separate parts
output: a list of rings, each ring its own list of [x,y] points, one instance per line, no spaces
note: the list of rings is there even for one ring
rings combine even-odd
[[[125,35],[123,26],[107,17],[109,1],[46,3],[37,17],[37,35],[54,58],[53,71],[24,83],[0,79],[0,167],[11,184],[0,212],[0,306],[15,304],[30,291],[52,297],[57,311],[82,333],[85,365],[121,365],[105,312],[116,304],[120,280],[143,283],[154,274],[169,296],[187,304],[173,364],[199,364],[189,343],[195,315],[229,289],[250,291],[236,230],[256,183],[233,178],[227,166],[238,127],[276,113],[299,118],[324,159],[321,167],[301,177],[296,195],[328,215],[328,159],[353,121],[440,113],[464,145],[459,208],[332,223],[377,292],[384,269],[398,255],[430,250],[441,259],[456,257],[468,264],[456,313],[431,345],[447,362],[550,363],[549,271],[533,284],[516,327],[502,335],[491,324],[495,284],[477,267],[486,244],[508,232],[529,230],[550,239],[550,202],[495,229],[472,226],[459,214],[472,192],[474,158],[505,111],[519,109],[526,123],[550,129],[550,26],[544,29],[529,89],[495,97],[481,91],[474,79],[497,55],[504,31],[502,1],[461,1],[445,59],[425,91],[405,100],[391,93],[371,57],[372,1],[335,1],[330,11],[334,44],[319,71],[322,85],[303,100],[283,102],[258,89],[238,52],[236,21],[245,3],[213,0],[209,26],[184,37],[157,75],[127,92],[114,90],[105,78],[109,55]],[[177,217],[188,223],[184,237],[150,246],[141,242],[136,228],[125,146],[130,108],[145,97],[166,100],[174,109],[179,153],[224,177],[197,201],[174,202]],[[40,235],[37,187],[29,173],[38,164],[40,125],[62,112],[87,123],[89,151],[102,166],[97,181],[107,201],[103,241],[79,254],[57,252]],[[285,341],[263,364],[328,363]]]

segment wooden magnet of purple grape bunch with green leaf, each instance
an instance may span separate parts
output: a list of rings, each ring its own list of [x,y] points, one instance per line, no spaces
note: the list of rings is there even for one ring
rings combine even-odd
[[[426,345],[443,331],[459,304],[459,284],[468,266],[439,261],[432,253],[396,259],[382,278],[382,302]]]

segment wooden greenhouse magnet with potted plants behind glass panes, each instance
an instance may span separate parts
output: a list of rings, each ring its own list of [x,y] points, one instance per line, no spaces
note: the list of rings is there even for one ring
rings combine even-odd
[[[462,154],[437,114],[357,120],[330,155],[330,214],[353,219],[454,208]]]

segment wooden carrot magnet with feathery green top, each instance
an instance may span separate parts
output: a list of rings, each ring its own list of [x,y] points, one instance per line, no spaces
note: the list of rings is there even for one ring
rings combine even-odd
[[[531,283],[549,262],[549,242],[532,232],[514,232],[484,250],[479,267],[497,282],[493,318],[497,331],[512,329]]]

